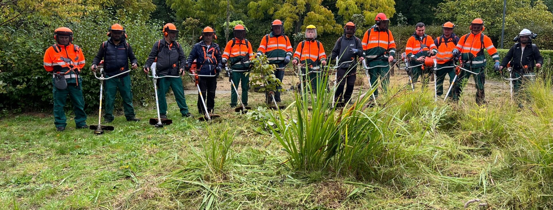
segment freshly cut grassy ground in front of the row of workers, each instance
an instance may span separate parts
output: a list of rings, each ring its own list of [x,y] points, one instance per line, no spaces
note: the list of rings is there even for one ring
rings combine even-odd
[[[347,130],[332,126],[347,138],[332,135],[342,140],[335,145],[342,154],[328,164],[323,156],[325,167],[295,167],[266,127],[267,115],[254,120],[235,114],[226,108],[229,94],[217,96],[223,119],[215,122],[171,114],[178,113],[173,101],[172,125],[148,125],[146,118],[155,115],[150,106],[138,108],[142,122],[118,116],[116,130],[100,136],[72,122],[56,133],[49,113],[7,116],[0,121],[0,209],[462,209],[473,198],[481,201],[468,209],[479,203],[553,208],[550,83],[528,87],[536,99],[521,110],[509,101],[508,88],[493,83],[487,91],[497,92],[488,91],[486,107],[474,104],[470,90],[462,103],[434,102],[429,90],[401,90],[404,83],[392,77],[394,87],[378,99],[380,106],[352,109],[358,115],[351,113]],[[285,104],[296,101],[294,93],[283,96]],[[263,98],[253,93],[251,106]],[[195,96],[188,99],[196,113]],[[307,101],[319,99],[327,100]],[[299,107],[293,104],[282,117],[270,112],[288,123],[298,114],[313,123],[315,112]],[[336,119],[347,110],[336,112]],[[377,122],[371,137],[382,137],[380,149],[349,144],[362,142],[352,135],[366,138],[350,127],[362,118]],[[314,131],[323,135],[325,129]]]

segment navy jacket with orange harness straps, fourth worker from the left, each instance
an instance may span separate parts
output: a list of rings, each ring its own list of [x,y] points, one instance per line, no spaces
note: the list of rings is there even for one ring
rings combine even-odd
[[[217,67],[221,67],[221,69],[223,67],[221,64],[222,59],[221,49],[218,44],[211,42],[210,48],[207,49],[204,41],[200,41],[200,43],[194,45],[186,62],[192,64],[196,60],[197,68],[199,69],[197,73],[199,75],[215,75],[219,73],[216,72]]]

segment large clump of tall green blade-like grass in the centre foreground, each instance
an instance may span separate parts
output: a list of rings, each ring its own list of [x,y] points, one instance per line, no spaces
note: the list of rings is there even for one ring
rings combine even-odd
[[[293,110],[272,114],[273,133],[296,170],[332,170],[338,174],[368,171],[378,164],[390,137],[383,111],[368,108],[375,88],[352,106],[332,107],[332,92],[322,75],[316,93],[295,93]],[[306,84],[307,89],[311,85]],[[309,106],[311,104],[311,106]],[[388,118],[390,119],[390,118]],[[277,132],[278,130],[278,132]]]

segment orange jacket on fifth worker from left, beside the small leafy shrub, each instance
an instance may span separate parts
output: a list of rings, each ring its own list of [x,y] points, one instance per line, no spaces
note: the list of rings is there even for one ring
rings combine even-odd
[[[231,65],[232,70],[246,70],[253,59],[252,43],[247,39],[231,39],[223,51],[223,61]]]

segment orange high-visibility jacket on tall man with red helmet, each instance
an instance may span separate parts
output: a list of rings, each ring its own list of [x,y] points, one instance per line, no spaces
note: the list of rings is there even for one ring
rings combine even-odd
[[[379,30],[376,25],[367,31],[361,41],[365,57],[368,61],[385,60],[389,56],[395,57],[395,41],[392,31]]]

